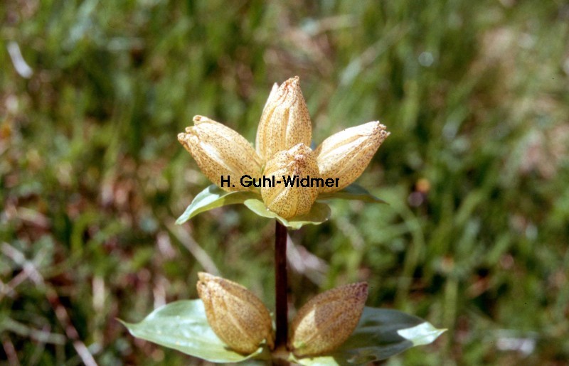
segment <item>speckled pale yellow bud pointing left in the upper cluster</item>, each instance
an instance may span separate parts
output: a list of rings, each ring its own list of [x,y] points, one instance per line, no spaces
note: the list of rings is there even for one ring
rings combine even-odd
[[[186,127],[186,133],[178,134],[178,141],[196,159],[210,181],[227,191],[254,190],[221,184],[221,176],[227,180],[230,176],[240,178],[245,174],[253,178],[260,176],[262,164],[249,142],[233,129],[208,117],[193,117],[193,123],[193,127]]]

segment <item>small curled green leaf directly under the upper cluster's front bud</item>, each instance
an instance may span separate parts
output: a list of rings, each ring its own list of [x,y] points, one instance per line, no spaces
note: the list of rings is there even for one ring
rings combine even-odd
[[[277,219],[280,221],[282,225],[286,227],[290,227],[293,230],[300,229],[304,225],[319,225],[322,222],[328,220],[330,218],[330,207],[325,203],[315,202],[312,205],[312,209],[306,215],[298,215],[292,217],[292,219],[287,220],[285,218],[280,217],[275,212],[272,212],[265,206],[265,203],[258,198],[250,198],[243,202],[245,206],[249,208],[252,212],[255,212],[257,215],[262,217],[269,217],[270,219]]]

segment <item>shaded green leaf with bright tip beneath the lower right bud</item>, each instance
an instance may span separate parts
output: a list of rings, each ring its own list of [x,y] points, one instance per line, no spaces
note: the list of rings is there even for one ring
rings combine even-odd
[[[361,365],[385,360],[417,345],[432,343],[445,329],[400,311],[363,309],[356,330],[330,355],[294,359],[301,365]]]

